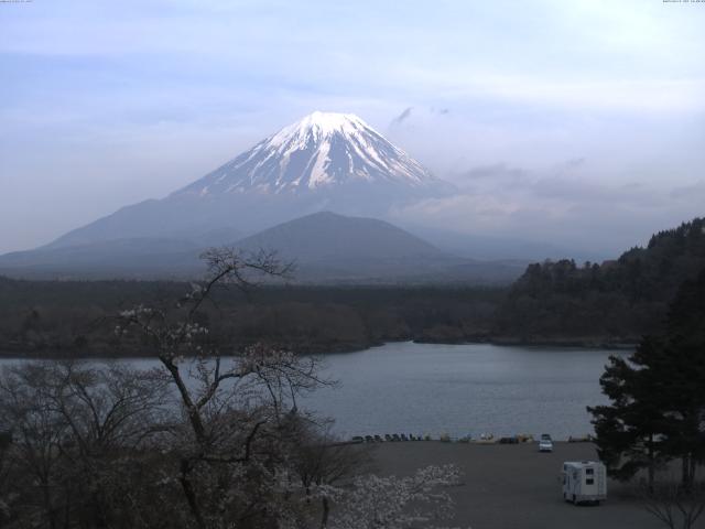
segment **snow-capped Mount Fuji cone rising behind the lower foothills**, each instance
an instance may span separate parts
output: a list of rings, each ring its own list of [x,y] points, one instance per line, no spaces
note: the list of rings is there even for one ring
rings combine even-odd
[[[454,187],[351,114],[313,112],[162,199],[123,207],[45,248],[118,239],[231,242],[322,210],[386,217]],[[214,240],[214,238],[216,240]]]

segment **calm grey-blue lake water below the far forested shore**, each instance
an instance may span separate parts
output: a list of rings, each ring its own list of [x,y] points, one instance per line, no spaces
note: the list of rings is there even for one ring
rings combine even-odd
[[[593,431],[586,406],[605,402],[599,376],[615,352],[488,344],[392,343],[324,357],[339,384],[306,396],[305,409],[335,418],[344,436]],[[619,353],[626,355],[627,353]],[[1,365],[21,360],[0,360]],[[152,367],[156,360],[124,360]]]

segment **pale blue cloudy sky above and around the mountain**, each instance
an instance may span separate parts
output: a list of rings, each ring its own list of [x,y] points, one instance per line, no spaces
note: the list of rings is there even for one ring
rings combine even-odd
[[[618,252],[705,215],[705,2],[0,2],[0,253],[314,111],[459,188],[400,223]]]

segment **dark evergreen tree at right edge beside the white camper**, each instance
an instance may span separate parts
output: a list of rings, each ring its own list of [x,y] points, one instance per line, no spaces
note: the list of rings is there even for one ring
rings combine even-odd
[[[665,333],[646,336],[627,360],[610,357],[600,386],[611,403],[588,411],[610,475],[648,468],[652,485],[660,463],[680,458],[690,489],[705,461],[705,270],[680,288]]]

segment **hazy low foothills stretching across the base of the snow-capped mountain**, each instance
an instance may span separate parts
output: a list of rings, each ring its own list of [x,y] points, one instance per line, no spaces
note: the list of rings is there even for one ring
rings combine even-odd
[[[226,234],[227,235],[227,234]],[[242,251],[275,250],[297,264],[300,283],[509,282],[523,263],[447,255],[383,220],[317,213],[231,242]],[[188,279],[204,272],[192,241],[137,238],[0,256],[0,273],[44,279]]]

